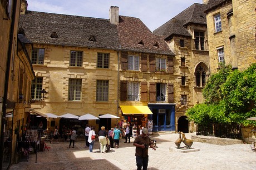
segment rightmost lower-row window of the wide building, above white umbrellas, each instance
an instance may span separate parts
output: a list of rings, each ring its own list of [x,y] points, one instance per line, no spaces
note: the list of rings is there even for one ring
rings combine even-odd
[[[109,80],[97,80],[96,102],[108,102],[108,101],[109,101]]]

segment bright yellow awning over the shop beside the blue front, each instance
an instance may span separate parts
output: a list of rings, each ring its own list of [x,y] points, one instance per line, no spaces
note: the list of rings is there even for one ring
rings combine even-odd
[[[147,106],[120,106],[123,114],[153,114]]]

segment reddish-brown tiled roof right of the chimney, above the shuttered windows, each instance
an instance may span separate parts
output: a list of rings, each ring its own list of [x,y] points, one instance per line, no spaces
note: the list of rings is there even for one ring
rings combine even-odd
[[[117,28],[123,50],[174,55],[164,37],[153,34],[139,18],[119,16]]]

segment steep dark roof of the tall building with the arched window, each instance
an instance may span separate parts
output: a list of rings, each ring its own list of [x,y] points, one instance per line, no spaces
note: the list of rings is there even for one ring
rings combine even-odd
[[[191,23],[206,25],[206,14],[204,13],[205,8],[205,4],[194,3],[183,12],[163,24],[163,26],[155,29],[153,33],[162,35],[164,38],[168,38],[173,34],[191,37],[191,34],[185,26]]]

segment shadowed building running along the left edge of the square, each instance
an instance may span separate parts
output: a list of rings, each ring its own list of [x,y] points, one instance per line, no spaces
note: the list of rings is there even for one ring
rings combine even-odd
[[[16,162],[17,141],[24,130],[31,81],[35,78],[24,42],[18,35],[21,1],[0,1],[0,168]]]

